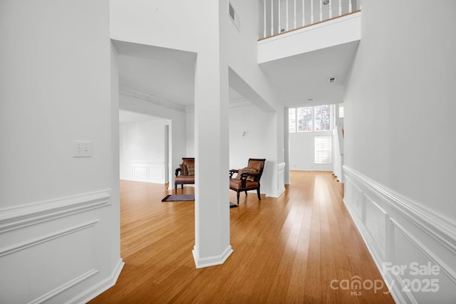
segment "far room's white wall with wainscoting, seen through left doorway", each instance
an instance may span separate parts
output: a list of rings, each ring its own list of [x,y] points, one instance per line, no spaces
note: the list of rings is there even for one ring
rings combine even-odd
[[[120,124],[120,179],[165,184],[167,120]]]

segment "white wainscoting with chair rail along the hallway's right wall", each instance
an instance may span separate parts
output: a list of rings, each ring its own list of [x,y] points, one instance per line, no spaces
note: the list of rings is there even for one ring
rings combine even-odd
[[[343,172],[344,202],[395,301],[454,303],[456,223],[350,167]]]

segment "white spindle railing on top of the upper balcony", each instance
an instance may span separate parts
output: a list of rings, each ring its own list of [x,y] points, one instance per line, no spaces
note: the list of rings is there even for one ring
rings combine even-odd
[[[261,0],[261,4],[260,39],[361,9],[361,0]]]

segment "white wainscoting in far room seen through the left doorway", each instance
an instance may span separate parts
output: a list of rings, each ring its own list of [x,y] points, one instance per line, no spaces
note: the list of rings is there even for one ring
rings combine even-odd
[[[120,164],[120,179],[165,184],[165,164],[163,162],[123,162]]]

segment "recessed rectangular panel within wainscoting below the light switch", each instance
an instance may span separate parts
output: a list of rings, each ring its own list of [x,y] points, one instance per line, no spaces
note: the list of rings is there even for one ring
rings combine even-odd
[[[41,303],[77,284],[75,278],[98,273],[98,252],[94,254],[93,247],[95,224],[97,221],[92,221],[2,248],[0,268],[9,277],[1,285],[15,290],[9,303],[27,303],[31,299],[32,303]],[[21,271],[16,269],[17,261],[21,261]]]

